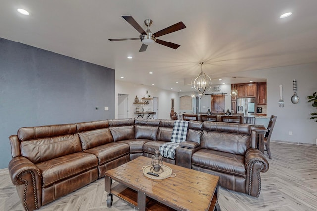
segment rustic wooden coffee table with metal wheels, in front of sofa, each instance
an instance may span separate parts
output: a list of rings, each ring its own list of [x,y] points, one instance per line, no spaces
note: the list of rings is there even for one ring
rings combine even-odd
[[[112,206],[115,195],[139,211],[220,211],[218,176],[163,164],[176,176],[163,180],[146,177],[142,167],[151,165],[151,158],[144,156],[106,171],[107,206]]]

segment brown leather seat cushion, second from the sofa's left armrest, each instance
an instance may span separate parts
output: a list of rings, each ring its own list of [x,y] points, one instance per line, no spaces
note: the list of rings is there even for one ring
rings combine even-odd
[[[93,154],[98,159],[98,165],[110,162],[122,156],[129,154],[130,147],[125,143],[107,143],[86,150],[85,153]]]

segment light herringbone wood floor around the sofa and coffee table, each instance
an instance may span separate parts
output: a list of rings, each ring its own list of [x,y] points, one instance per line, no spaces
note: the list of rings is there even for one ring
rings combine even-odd
[[[268,159],[270,169],[261,174],[259,198],[221,189],[221,211],[317,211],[317,147],[271,142],[271,148],[272,160]],[[0,169],[0,211],[22,210],[8,169]],[[107,208],[104,179],[42,206],[39,210],[135,211],[116,197],[112,207]]]

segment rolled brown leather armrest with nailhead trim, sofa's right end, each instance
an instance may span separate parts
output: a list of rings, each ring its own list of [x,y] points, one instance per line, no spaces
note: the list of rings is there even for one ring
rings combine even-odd
[[[259,197],[261,191],[260,172],[268,171],[268,161],[258,149],[250,148],[246,152],[244,165],[247,170],[246,192],[251,196]]]

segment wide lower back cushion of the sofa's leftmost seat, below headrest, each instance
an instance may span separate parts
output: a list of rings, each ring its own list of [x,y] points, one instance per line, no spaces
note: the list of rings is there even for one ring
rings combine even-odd
[[[35,164],[76,152],[82,152],[77,134],[21,142],[21,155]]]

